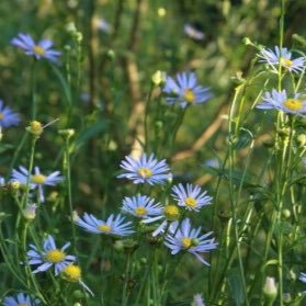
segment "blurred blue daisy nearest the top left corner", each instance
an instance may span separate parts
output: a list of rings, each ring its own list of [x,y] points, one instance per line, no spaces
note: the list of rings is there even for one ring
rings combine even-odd
[[[11,43],[25,50],[26,55],[34,56],[35,59],[46,58],[50,61],[57,61],[60,56],[60,52],[52,49],[52,41],[41,39],[36,44],[29,34],[20,33]]]

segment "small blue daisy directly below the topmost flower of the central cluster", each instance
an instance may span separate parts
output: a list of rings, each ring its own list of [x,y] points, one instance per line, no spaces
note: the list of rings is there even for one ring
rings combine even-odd
[[[124,197],[122,211],[137,218],[145,219],[160,215],[162,207],[159,204],[156,204],[154,199],[138,194],[133,197]]]

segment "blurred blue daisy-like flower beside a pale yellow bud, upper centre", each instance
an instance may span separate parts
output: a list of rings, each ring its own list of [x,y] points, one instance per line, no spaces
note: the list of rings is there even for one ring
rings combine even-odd
[[[189,104],[197,104],[207,101],[212,94],[209,88],[199,86],[197,78],[194,72],[182,72],[177,75],[177,80],[167,77],[163,92],[168,94],[168,104],[180,103],[184,109]]]

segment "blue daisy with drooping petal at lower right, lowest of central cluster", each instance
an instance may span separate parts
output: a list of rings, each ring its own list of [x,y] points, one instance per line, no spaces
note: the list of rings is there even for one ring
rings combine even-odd
[[[200,235],[200,231],[201,227],[197,229],[191,227],[189,218],[183,219],[181,225],[179,225],[179,222],[175,222],[166,234],[165,245],[171,249],[171,254],[185,251],[194,254],[202,263],[209,265],[199,253],[216,249],[217,243],[214,238],[207,239],[212,231],[205,235]]]

